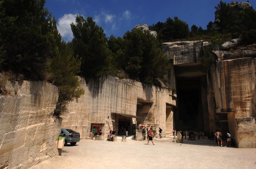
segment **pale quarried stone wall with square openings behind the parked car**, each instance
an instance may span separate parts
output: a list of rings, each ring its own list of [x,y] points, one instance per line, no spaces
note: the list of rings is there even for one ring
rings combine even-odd
[[[171,130],[165,128],[166,104],[176,106],[176,95],[171,90],[112,76],[89,82],[81,79],[80,86],[84,95],[70,102],[68,113],[61,117],[62,127],[79,132],[81,138],[89,137],[93,126],[100,127],[103,133],[113,128],[120,133],[120,123],[129,123],[129,134],[135,134],[135,118],[137,125],[158,126],[163,132]],[[172,115],[173,110],[170,110],[167,114],[170,123]]]

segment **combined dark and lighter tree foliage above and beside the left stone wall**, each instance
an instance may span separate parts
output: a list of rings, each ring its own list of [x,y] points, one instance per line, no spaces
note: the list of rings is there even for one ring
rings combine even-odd
[[[59,115],[67,101],[83,93],[76,77],[81,61],[71,44],[61,40],[56,20],[44,5],[45,0],[0,1],[0,71],[56,85],[54,115]]]

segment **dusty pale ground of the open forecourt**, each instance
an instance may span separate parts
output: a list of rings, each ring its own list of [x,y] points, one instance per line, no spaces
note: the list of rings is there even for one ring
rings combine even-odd
[[[65,146],[62,156],[49,158],[31,169],[253,169],[256,149],[218,147],[214,141],[190,141],[177,144],[172,138],[157,138],[153,146],[131,137],[122,142],[81,140]],[[223,143],[224,144],[224,143]]]

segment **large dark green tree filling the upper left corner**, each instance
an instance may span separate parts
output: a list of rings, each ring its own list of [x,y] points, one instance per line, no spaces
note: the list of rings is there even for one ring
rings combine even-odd
[[[61,36],[44,0],[0,1],[0,50],[3,71],[45,80]],[[3,62],[4,61],[4,62]]]

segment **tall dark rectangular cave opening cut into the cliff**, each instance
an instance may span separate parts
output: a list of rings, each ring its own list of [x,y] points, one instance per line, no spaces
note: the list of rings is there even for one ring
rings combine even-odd
[[[206,70],[200,63],[177,65],[177,108],[174,111],[177,130],[209,133]]]

